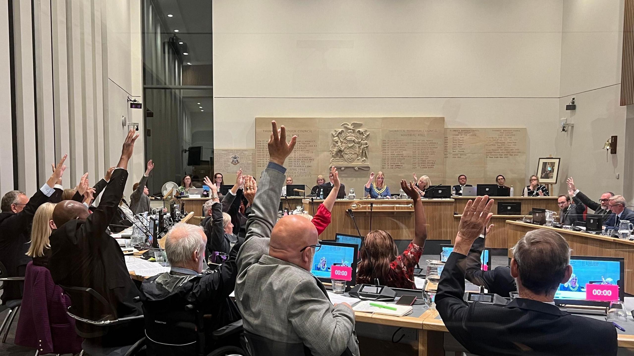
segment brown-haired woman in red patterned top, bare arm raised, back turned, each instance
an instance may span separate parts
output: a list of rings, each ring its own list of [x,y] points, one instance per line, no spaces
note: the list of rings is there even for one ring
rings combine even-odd
[[[418,264],[427,240],[427,218],[414,183],[401,181],[401,188],[413,200],[414,237],[405,251],[398,254],[396,243],[389,232],[375,230],[368,233],[359,255],[356,283],[380,284],[391,288],[416,289],[414,267]],[[375,281],[378,279],[378,283]]]

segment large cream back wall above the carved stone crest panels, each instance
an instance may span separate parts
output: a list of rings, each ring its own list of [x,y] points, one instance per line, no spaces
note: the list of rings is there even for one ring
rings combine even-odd
[[[527,127],[532,174],[555,155],[561,29],[554,0],[214,1],[214,147],[254,148],[256,117],[443,116]]]

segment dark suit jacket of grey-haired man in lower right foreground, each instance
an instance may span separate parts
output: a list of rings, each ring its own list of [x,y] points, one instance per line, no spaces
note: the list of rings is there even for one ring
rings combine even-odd
[[[436,308],[456,340],[476,355],[616,355],[610,322],[516,298],[505,307],[466,303],[467,258],[452,252],[436,293]]]

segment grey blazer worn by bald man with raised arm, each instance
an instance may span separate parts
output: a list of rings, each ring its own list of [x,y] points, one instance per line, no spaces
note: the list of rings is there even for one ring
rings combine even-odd
[[[359,355],[353,310],[333,307],[306,270],[268,256],[284,173],[275,163],[262,172],[238,253],[235,296],[244,328],[271,340],[304,343],[315,356],[339,356],[346,347]]]

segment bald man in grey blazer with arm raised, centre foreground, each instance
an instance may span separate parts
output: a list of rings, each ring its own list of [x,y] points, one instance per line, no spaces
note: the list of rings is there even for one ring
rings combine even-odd
[[[310,274],[318,234],[303,217],[276,224],[284,160],[295,146],[286,142],[275,122],[269,140],[270,162],[247,221],[247,236],[238,254],[235,296],[244,328],[269,340],[303,343],[313,355],[359,355],[352,308],[330,303],[325,288]],[[245,194],[253,189],[245,182]]]

